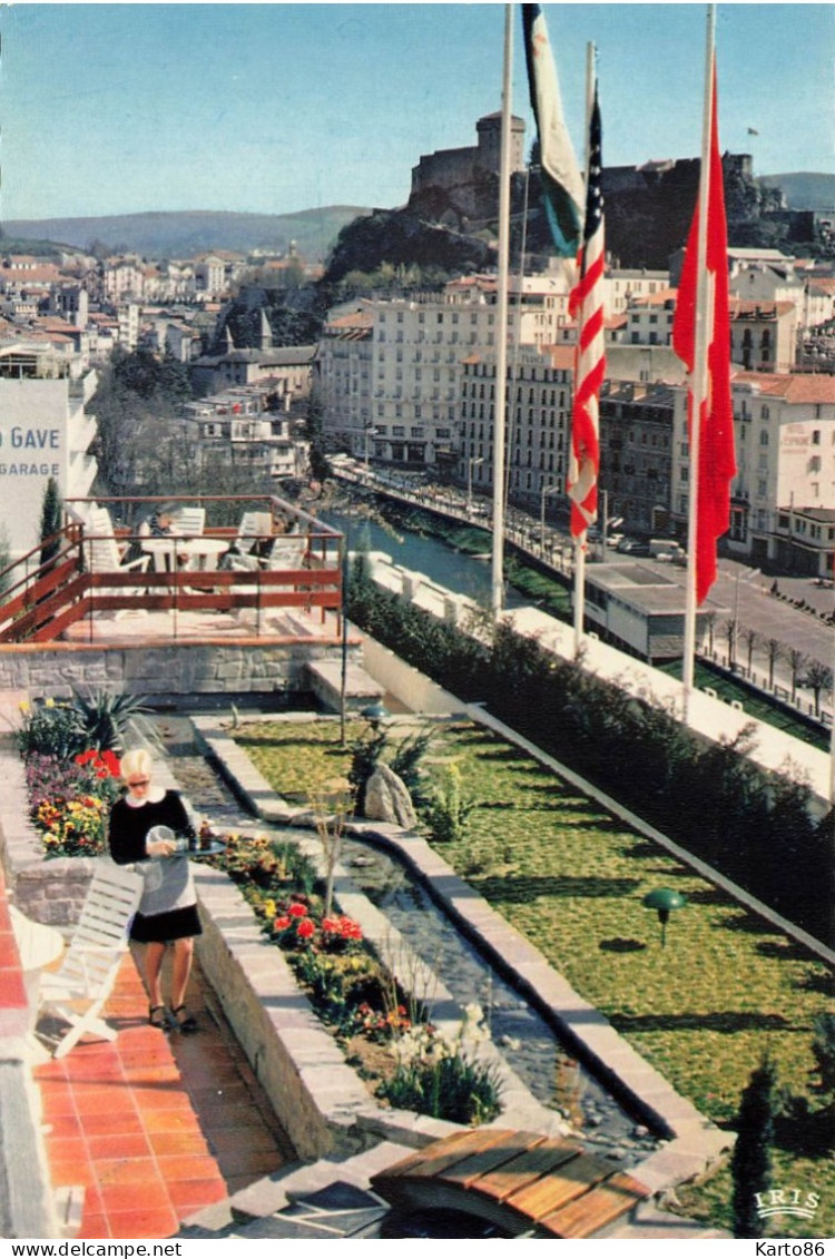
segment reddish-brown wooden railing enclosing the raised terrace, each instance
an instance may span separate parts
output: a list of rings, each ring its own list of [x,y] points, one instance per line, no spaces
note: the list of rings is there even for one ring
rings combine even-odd
[[[212,613],[252,609],[254,618],[241,619],[239,630],[257,637],[278,633],[270,613],[281,609],[319,608],[322,621],[327,611],[341,618],[344,540],[329,525],[275,497],[204,497],[200,506],[209,520],[213,515],[233,520],[236,511],[263,506],[264,501],[268,511],[293,520],[292,536],[300,545],[292,563],[276,567],[266,554],[261,559],[251,554],[233,568],[224,556],[239,553],[236,522],[209,524],[199,538],[173,534],[164,540],[133,524],[142,510],[161,501],[185,505],[195,499],[68,501],[62,529],[0,572],[0,646],[55,641],[84,619],[92,640],[96,621],[146,612],[171,613],[165,633],[170,638],[180,636],[180,613],[205,613],[208,619]],[[112,517],[102,516],[101,509]],[[102,531],[102,519],[133,522],[112,525],[111,533]],[[251,543],[252,551],[266,553],[273,535],[257,534]],[[101,627],[97,637],[102,637]]]

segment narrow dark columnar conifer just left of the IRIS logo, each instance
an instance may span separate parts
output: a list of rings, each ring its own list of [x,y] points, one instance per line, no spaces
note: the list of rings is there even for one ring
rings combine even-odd
[[[752,1071],[739,1104],[733,1176],[733,1235],[761,1238],[757,1195],[771,1187],[771,1147],[775,1139],[777,1070],[766,1056]]]

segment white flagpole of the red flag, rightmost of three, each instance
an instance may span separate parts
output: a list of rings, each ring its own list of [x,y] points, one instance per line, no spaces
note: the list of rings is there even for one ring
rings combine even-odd
[[[699,525],[699,446],[702,409],[708,397],[708,345],[710,342],[708,277],[708,206],[710,203],[710,132],[713,125],[713,59],[715,43],[715,5],[708,5],[704,71],[704,120],[702,128],[702,169],[699,171],[699,235],[696,261],[696,311],[694,368],[690,383],[690,466],[688,481],[688,569],[684,616],[684,718],[688,718],[694,689],[696,627],[696,555]]]

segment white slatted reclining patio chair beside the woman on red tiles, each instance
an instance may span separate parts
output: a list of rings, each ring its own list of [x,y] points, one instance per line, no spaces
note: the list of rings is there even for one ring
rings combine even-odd
[[[101,1017],[116,974],[128,949],[131,922],[145,880],[131,866],[98,857],[81,918],[60,967],[40,977],[40,1013],[69,1024],[57,1039],[54,1058],[63,1058],[88,1032],[115,1040],[116,1030]]]

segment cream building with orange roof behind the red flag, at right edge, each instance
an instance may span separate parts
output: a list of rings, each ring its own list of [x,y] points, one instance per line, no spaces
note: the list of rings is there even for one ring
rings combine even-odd
[[[831,541],[825,530],[812,536],[810,522],[835,511],[835,376],[738,371],[732,393],[737,476],[728,550],[754,564],[771,560],[810,575],[829,568],[831,575]],[[676,390],[671,502],[680,529],[688,515],[685,407]]]

